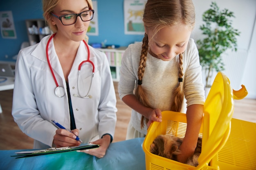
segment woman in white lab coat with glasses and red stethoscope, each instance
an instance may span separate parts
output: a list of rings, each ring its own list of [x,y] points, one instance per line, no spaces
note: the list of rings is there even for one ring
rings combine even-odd
[[[116,96],[106,55],[83,41],[93,18],[91,0],[43,0],[53,35],[20,50],[12,115],[34,148],[100,147],[83,152],[103,157],[116,124]],[[58,129],[51,120],[66,129]]]

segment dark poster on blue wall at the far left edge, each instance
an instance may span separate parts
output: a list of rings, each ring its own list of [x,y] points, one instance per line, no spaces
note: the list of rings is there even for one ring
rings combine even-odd
[[[11,11],[0,11],[0,28],[2,38],[16,39],[16,31]]]

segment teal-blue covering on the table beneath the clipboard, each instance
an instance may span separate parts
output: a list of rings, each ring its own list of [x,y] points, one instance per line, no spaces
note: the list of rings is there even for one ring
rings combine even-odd
[[[111,143],[106,155],[97,157],[70,151],[35,157],[11,157],[25,150],[0,150],[1,170],[145,170],[144,138]]]

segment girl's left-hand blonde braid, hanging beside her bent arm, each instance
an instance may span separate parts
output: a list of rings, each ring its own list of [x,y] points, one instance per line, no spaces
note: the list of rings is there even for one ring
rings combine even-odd
[[[141,56],[140,56],[140,61],[139,61],[139,68],[138,68],[138,87],[135,90],[135,96],[139,100],[139,102],[146,106],[150,107],[148,98],[146,97],[145,90],[141,87],[142,84],[142,78],[144,75],[145,67],[146,67],[146,59],[147,59],[147,54],[148,54],[148,35],[145,33],[145,36],[142,41],[142,46],[141,46]],[[144,116],[141,116],[141,129],[144,127]],[[148,122],[148,119],[146,119],[146,122]]]

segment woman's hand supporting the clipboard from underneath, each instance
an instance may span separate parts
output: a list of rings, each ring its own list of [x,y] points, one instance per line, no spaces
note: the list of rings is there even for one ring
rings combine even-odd
[[[93,155],[98,158],[102,158],[106,154],[108,146],[110,145],[110,140],[111,140],[110,135],[104,135],[101,139],[98,139],[94,142],[90,142],[91,144],[99,145],[99,148],[87,149],[87,150],[77,150],[77,152],[83,152],[83,153],[87,153],[87,154]]]

